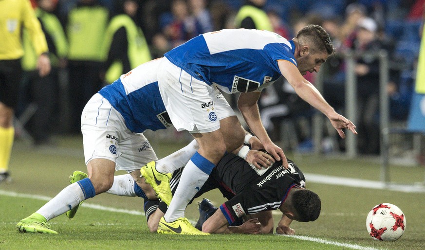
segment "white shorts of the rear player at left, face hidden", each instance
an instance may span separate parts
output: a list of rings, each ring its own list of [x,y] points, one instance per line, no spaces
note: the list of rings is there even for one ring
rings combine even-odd
[[[132,133],[122,115],[96,93],[81,115],[86,165],[93,159],[114,161],[115,170],[132,172],[158,160],[143,133]]]

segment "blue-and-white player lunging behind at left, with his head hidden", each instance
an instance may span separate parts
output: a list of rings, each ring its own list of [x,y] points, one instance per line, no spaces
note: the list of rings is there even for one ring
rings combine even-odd
[[[82,201],[108,191],[115,170],[129,172],[136,180],[134,190],[139,196],[155,198],[155,194],[143,193],[141,186],[145,183],[139,179],[139,170],[148,162],[158,160],[142,132],[171,125],[158,89],[157,69],[161,60],[140,65],[93,95],[81,115],[89,178],[75,177],[75,183],[64,188],[36,213],[22,219],[17,225],[20,232],[57,233],[46,222],[63,213],[72,218]],[[211,95],[215,98],[217,119],[222,123],[223,133],[227,137],[235,133],[243,136],[245,131],[220,91],[216,89]],[[232,126],[227,126],[228,123]],[[235,123],[237,125],[233,126]],[[226,130],[226,127],[231,129]],[[165,162],[166,167],[174,171],[184,166],[197,149],[194,140],[179,151],[173,162]],[[161,167],[161,162],[158,166]]]

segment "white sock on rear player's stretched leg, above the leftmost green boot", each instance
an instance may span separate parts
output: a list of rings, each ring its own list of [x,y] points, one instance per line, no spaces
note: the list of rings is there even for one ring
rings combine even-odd
[[[71,210],[82,200],[84,200],[84,193],[78,183],[75,182],[62,189],[59,194],[38,209],[36,213],[43,215],[47,220],[51,220]]]

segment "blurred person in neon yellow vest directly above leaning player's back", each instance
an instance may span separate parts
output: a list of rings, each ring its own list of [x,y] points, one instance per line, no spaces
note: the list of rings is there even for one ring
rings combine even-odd
[[[273,31],[267,13],[263,10],[267,0],[247,0],[235,18],[235,27]]]

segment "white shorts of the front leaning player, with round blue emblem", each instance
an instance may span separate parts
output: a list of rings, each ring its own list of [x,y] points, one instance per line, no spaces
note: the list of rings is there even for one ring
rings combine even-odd
[[[177,131],[212,132],[220,128],[220,120],[236,116],[216,86],[192,77],[166,57],[161,59],[158,87]]]

